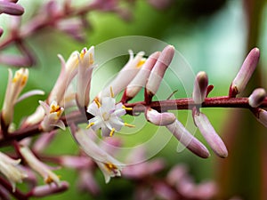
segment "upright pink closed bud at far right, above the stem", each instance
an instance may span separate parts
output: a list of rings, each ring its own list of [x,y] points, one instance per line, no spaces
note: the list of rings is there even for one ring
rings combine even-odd
[[[250,77],[255,71],[259,58],[260,50],[258,48],[254,48],[248,53],[247,58],[239,69],[237,76],[231,82],[229,97],[236,97],[237,94],[245,90]]]

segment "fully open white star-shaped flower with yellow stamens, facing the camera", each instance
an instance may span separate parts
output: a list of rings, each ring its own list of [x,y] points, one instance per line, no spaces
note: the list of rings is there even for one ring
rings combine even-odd
[[[112,97],[104,97],[102,103],[95,99],[87,108],[87,112],[94,116],[88,121],[87,128],[92,127],[93,131],[101,129],[102,136],[112,136],[124,125],[133,127],[131,124],[124,123],[120,118],[126,114],[125,109],[128,108],[125,108],[122,103],[116,104],[116,100]]]

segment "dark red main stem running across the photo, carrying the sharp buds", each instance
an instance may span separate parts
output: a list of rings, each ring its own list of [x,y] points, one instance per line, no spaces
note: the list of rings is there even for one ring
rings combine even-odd
[[[142,106],[141,106],[142,105]],[[223,97],[213,97],[206,98],[202,105],[194,103],[191,98],[184,98],[180,100],[160,100],[152,101],[150,105],[147,105],[144,101],[126,103],[125,107],[133,108],[133,111],[128,111],[129,115],[137,115],[138,113],[144,112],[146,108],[153,108],[158,111],[167,110],[179,110],[179,109],[192,109],[194,107],[200,108],[251,108],[248,104],[248,98],[229,98],[227,96]],[[261,108],[267,108],[267,98],[263,101]],[[93,116],[87,115],[86,117],[79,111],[73,112],[68,116],[63,116],[61,120],[68,126],[69,123],[86,123],[88,119]],[[55,129],[57,129],[55,127]],[[39,124],[33,124],[28,127],[23,127],[11,134],[7,134],[5,138],[0,139],[0,147],[10,144],[13,140],[22,140],[24,138],[41,133],[39,129]]]

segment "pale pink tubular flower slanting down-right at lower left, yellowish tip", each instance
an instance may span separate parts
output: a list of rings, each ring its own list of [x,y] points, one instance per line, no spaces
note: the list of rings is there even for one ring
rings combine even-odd
[[[61,186],[61,180],[59,177],[53,173],[46,164],[38,160],[28,147],[21,146],[19,151],[20,155],[23,156],[28,166],[34,171],[38,172],[44,178],[44,182],[46,184],[51,184],[54,182],[58,187]]]

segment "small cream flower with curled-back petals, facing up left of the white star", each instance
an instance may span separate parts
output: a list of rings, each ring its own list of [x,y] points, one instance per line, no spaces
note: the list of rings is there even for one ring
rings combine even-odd
[[[65,130],[65,124],[61,121],[61,115],[64,108],[61,108],[56,101],[53,101],[50,105],[44,101],[39,100],[40,105],[44,108],[44,119],[40,124],[40,128],[44,132],[53,130],[54,126],[60,127]]]

